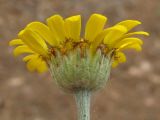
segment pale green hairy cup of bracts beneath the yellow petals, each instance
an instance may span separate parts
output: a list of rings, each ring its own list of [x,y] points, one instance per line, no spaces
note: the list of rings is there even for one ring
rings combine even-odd
[[[110,58],[100,51],[94,57],[89,52],[82,57],[79,50],[67,56],[58,54],[50,62],[54,80],[69,92],[83,89],[94,91],[103,87],[108,80],[110,68]]]

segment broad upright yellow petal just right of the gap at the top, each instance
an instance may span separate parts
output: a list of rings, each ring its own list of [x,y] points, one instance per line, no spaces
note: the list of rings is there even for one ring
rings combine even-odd
[[[93,14],[89,18],[85,28],[85,39],[92,42],[102,32],[107,18],[100,14]]]

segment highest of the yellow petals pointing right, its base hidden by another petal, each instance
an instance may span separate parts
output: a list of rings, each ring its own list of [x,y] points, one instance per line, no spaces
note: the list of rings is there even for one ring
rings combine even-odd
[[[137,20],[125,20],[125,21],[118,23],[117,25],[123,25],[124,27],[127,28],[127,31],[129,31],[139,24],[141,24],[141,22]]]

